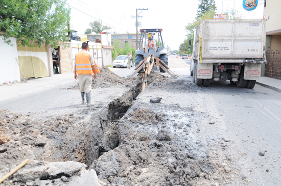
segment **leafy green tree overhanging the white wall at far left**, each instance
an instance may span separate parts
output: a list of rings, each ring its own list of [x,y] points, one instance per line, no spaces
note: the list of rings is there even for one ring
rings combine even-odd
[[[0,36],[10,44],[15,37],[22,45],[35,46],[67,41],[67,23],[71,12],[66,0],[2,0]]]

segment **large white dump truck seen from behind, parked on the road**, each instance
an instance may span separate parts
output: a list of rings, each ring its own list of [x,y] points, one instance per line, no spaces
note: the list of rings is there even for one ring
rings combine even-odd
[[[230,81],[252,89],[266,64],[265,28],[265,19],[201,20],[193,39],[193,82],[208,87]]]

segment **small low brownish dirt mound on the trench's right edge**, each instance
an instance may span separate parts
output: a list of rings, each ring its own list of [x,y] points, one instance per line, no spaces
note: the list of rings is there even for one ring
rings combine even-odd
[[[130,120],[131,122],[139,122],[140,124],[145,123],[152,123],[157,124],[158,121],[161,121],[163,119],[162,113],[155,113],[154,111],[147,109],[147,108],[139,108],[135,110],[134,112],[130,113]],[[125,118],[127,119],[127,117]]]

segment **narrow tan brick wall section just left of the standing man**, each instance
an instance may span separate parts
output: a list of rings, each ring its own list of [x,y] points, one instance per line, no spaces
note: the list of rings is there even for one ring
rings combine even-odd
[[[60,45],[61,73],[73,72],[71,56],[71,45]]]

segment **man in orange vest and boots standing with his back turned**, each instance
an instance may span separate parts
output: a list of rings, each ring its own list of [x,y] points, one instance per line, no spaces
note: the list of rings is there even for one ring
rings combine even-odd
[[[84,96],[86,94],[87,107],[91,104],[91,84],[92,84],[92,74],[93,78],[97,78],[95,61],[93,60],[92,54],[87,51],[88,43],[82,43],[82,50],[77,52],[75,55],[75,70],[74,78],[77,79],[80,86],[80,92],[82,97],[82,104],[85,104]]]

